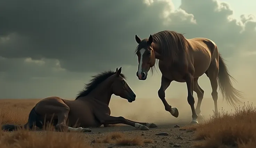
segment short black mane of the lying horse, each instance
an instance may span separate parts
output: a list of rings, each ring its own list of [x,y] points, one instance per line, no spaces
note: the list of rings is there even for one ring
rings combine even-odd
[[[97,75],[91,76],[92,79],[89,81],[89,83],[85,84],[85,87],[83,88],[83,90],[79,91],[75,99],[87,96],[92,90],[94,90],[98,86],[98,84],[102,83],[104,80],[106,80],[108,77],[112,76],[113,74],[116,74],[116,72],[109,70],[109,71],[104,71]],[[120,74],[120,76],[123,79],[126,79],[124,74]]]

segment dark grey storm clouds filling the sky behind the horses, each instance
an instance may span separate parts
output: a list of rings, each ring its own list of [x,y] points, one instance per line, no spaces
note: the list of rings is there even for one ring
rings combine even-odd
[[[19,83],[16,89],[58,79],[83,84],[120,66],[136,79],[135,34],[148,38],[162,30],[209,38],[225,58],[255,50],[253,15],[232,19],[235,10],[215,0],[181,2],[174,10],[170,0],[0,1],[0,79],[10,88]]]

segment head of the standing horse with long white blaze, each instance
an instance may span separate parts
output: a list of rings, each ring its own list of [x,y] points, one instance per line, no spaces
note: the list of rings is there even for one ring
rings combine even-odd
[[[155,54],[153,50],[153,36],[150,34],[149,39],[141,40],[135,35],[135,40],[138,43],[136,55],[138,56],[138,71],[136,73],[139,80],[147,79],[147,72],[155,64]]]

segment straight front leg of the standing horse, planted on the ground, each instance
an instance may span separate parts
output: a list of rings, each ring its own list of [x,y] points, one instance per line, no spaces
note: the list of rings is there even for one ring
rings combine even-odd
[[[193,75],[192,74],[186,74],[185,75],[185,81],[187,84],[187,102],[189,103],[192,111],[192,122],[190,124],[198,124],[197,121],[197,113],[195,112],[195,99],[193,96],[193,90],[194,90],[194,80],[193,80]]]

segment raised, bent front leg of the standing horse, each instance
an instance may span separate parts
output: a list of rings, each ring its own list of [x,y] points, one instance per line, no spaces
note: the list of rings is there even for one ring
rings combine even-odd
[[[168,104],[168,102],[165,99],[165,90],[170,86],[171,82],[172,80],[168,80],[164,76],[161,77],[161,87],[158,90],[158,97],[162,100],[163,105],[165,106],[165,110],[170,112],[171,115],[177,118],[179,116],[178,109],[171,108],[171,106]]]

